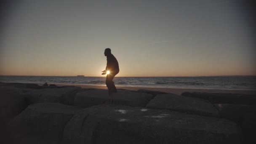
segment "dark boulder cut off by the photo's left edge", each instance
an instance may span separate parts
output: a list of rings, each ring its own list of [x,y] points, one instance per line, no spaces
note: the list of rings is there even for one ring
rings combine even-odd
[[[19,90],[0,88],[0,120],[7,123],[27,107],[24,93]]]

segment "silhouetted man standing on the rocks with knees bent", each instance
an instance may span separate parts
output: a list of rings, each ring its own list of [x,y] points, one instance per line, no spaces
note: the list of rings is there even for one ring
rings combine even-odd
[[[117,92],[117,88],[115,87],[113,79],[114,79],[115,75],[117,75],[119,72],[119,65],[118,65],[117,59],[111,53],[110,48],[105,49],[104,55],[107,56],[107,67],[104,71],[102,71],[103,73],[101,75],[107,74],[106,85],[109,90],[109,95],[111,95],[112,92],[114,92],[114,93]],[[109,73],[107,73],[108,71],[109,71]]]

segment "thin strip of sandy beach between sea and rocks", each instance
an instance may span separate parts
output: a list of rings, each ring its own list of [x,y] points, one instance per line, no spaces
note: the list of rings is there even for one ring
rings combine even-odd
[[[38,85],[43,85],[43,83],[37,83]],[[51,83],[48,83],[49,85]],[[75,84],[55,84],[57,86],[78,86],[81,88],[99,88],[107,89],[105,85],[75,85]],[[242,94],[256,94],[256,90],[230,90],[230,89],[195,89],[195,88],[152,88],[152,87],[129,87],[129,86],[116,86],[118,89],[127,89],[131,91],[137,91],[139,89],[151,90],[151,91],[162,91],[166,93],[174,93],[181,95],[183,92],[206,92],[206,93],[242,93]]]

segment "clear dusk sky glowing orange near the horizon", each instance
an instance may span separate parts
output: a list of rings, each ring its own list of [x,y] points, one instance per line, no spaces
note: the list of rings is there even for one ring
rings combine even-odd
[[[0,75],[256,75],[239,0],[22,0],[4,5]]]

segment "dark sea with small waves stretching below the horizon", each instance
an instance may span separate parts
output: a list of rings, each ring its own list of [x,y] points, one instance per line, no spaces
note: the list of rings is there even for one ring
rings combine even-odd
[[[0,76],[1,82],[105,85],[106,77]],[[256,76],[115,77],[115,85],[157,88],[256,90]]]

